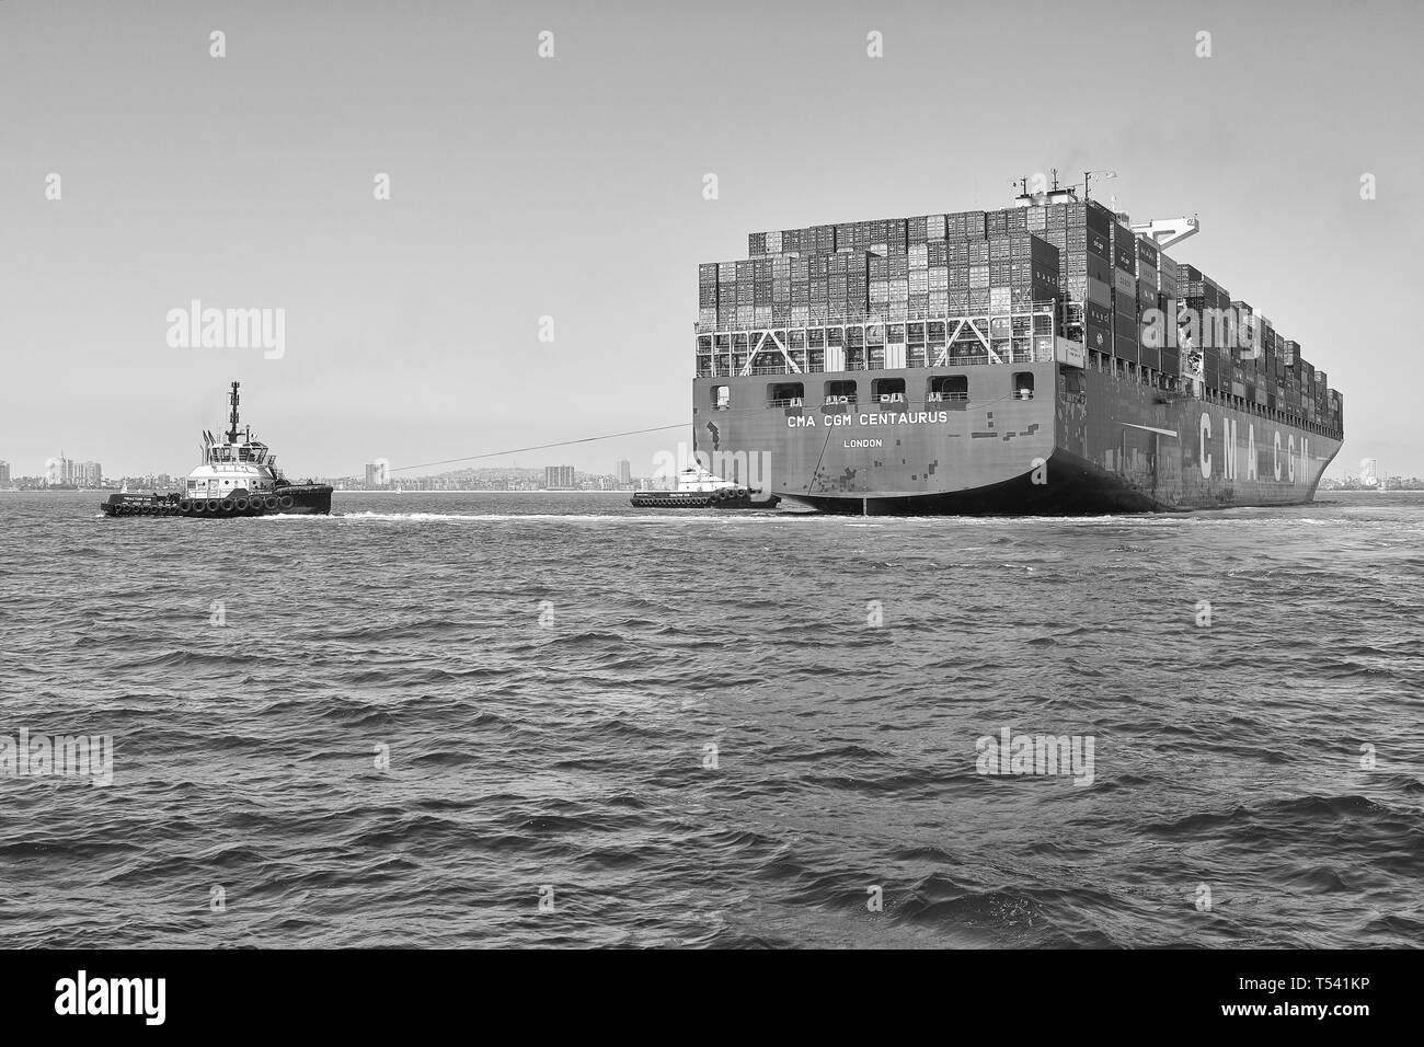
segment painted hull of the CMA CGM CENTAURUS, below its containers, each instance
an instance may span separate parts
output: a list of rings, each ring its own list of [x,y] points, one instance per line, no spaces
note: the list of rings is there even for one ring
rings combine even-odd
[[[928,399],[964,376],[967,399]],[[1031,376],[1032,396],[1015,393]],[[806,406],[763,406],[800,379]],[[903,403],[817,403],[822,380],[904,379]],[[725,409],[716,387],[725,386]],[[840,386],[843,389],[843,386]],[[699,377],[693,449],[725,479],[827,513],[1101,514],[1314,499],[1339,434],[1232,397],[1064,363]]]

